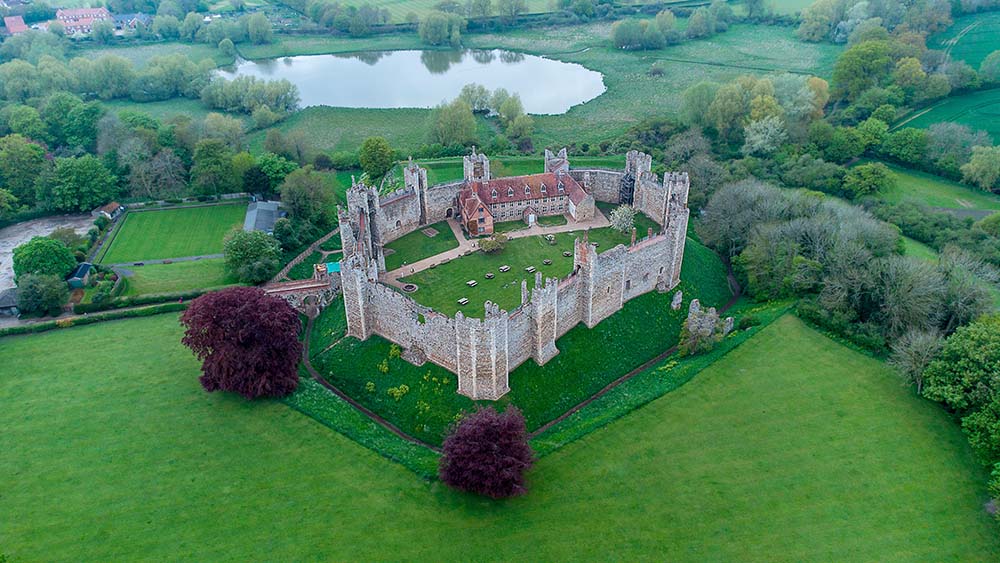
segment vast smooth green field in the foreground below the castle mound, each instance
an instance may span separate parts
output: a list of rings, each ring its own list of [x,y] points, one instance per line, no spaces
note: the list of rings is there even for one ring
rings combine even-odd
[[[12,561],[1000,558],[957,425],[792,317],[546,456],[505,502],[202,392],[180,336],[161,315],[0,340]]]

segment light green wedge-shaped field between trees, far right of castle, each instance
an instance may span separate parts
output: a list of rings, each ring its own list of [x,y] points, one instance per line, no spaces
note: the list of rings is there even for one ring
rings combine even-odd
[[[961,210],[1000,210],[1000,196],[984,192],[941,176],[886,164],[896,186],[881,194],[892,202],[911,202],[927,207]]]

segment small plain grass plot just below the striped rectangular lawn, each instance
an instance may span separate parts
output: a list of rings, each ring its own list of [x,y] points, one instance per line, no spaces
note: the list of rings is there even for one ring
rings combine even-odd
[[[222,258],[129,266],[127,269],[132,272],[132,276],[126,279],[122,295],[173,293],[238,283],[226,275],[225,261]]]

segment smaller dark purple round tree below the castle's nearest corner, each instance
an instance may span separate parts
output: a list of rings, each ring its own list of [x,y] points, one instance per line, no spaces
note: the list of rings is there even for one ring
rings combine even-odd
[[[444,441],[439,476],[459,490],[506,498],[524,494],[524,473],[534,453],[524,415],[508,406],[503,413],[479,408],[456,424]]]

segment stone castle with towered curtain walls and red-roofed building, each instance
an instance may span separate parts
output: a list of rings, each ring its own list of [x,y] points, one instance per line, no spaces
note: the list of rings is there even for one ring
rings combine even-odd
[[[411,161],[404,169],[404,187],[385,197],[372,187],[352,186],[346,209],[339,209],[347,334],[361,340],[382,336],[400,345],[407,361],[431,361],[457,374],[459,393],[476,400],[499,399],[509,391],[514,368],[529,358],[545,364],[559,353],[556,340],[577,324],[592,328],[626,301],[680,283],[688,177],[668,172],[660,180],[651,173],[651,164],[649,155],[632,151],[624,170],[577,169],[570,167],[566,149],[558,154],[546,150],[544,173],[493,179],[489,160],[473,152],[465,157],[464,178],[458,182],[428,186],[427,170]],[[501,197],[502,190],[516,193],[518,188],[518,197]],[[477,203],[466,214],[463,201],[470,199]],[[379,282],[386,271],[383,246],[422,226],[455,217],[476,236],[487,234],[479,230],[485,228],[487,211],[491,226],[493,218],[508,217],[505,212],[524,216],[529,207],[537,214],[566,213],[582,220],[595,213],[595,201],[631,204],[660,230],[650,229],[645,238],[633,236],[630,245],[600,254],[586,236],[577,239],[573,272],[563,279],[536,273],[530,288],[523,280],[521,305],[513,311],[487,302],[482,319],[461,312],[448,317]],[[517,205],[494,207],[503,203]]]

